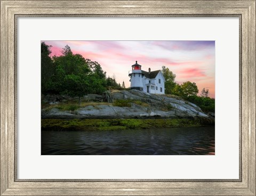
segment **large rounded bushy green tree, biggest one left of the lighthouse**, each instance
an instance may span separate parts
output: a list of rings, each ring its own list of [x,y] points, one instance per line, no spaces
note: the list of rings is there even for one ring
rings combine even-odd
[[[73,54],[67,45],[61,56],[54,56],[57,66],[52,78],[52,88],[62,95],[81,97],[87,93],[102,93],[106,90],[106,72],[97,62],[85,59],[80,54]]]

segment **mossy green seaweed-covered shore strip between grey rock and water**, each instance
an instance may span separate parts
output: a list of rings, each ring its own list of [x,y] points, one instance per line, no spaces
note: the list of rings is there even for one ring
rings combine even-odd
[[[215,126],[215,118],[42,118],[42,131],[114,131]]]

